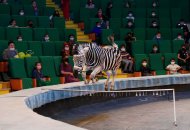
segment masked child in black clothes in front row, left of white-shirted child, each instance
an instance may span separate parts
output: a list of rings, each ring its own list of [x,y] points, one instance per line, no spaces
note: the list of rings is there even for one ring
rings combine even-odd
[[[146,59],[142,60],[142,65],[141,65],[140,71],[141,71],[142,76],[151,76],[152,75],[151,70],[150,70],[149,66],[147,65]]]

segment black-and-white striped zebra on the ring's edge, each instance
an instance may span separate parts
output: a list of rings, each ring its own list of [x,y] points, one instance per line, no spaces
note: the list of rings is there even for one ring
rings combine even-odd
[[[121,54],[117,48],[108,47],[103,48],[96,43],[84,43],[78,46],[78,55],[73,56],[74,69],[82,71],[82,77],[85,84],[89,81],[86,79],[86,71],[92,70],[90,79],[94,83],[95,76],[101,72],[106,71],[107,80],[105,82],[105,89],[108,90],[109,79],[112,75],[111,90],[114,87],[114,79],[116,70],[121,63]]]

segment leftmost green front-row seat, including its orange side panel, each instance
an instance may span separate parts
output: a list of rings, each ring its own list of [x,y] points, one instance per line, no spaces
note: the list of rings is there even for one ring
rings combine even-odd
[[[11,87],[12,90],[20,90],[20,89],[28,89],[32,88],[32,79],[28,78],[26,70],[25,70],[25,64],[24,59],[15,59],[11,58],[9,59],[9,70],[11,75]],[[21,83],[18,83],[19,80],[21,80]],[[19,86],[15,83],[16,81]]]

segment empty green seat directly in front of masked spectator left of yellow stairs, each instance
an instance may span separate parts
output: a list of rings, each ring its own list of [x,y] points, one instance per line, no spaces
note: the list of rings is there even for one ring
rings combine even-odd
[[[55,56],[54,42],[42,42],[43,56]]]

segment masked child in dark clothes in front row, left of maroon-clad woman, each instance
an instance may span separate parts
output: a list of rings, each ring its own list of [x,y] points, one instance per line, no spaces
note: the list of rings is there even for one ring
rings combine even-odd
[[[32,71],[32,78],[36,79],[37,87],[51,85],[51,81],[46,80],[42,73],[42,64],[40,62],[35,63],[35,67]]]

